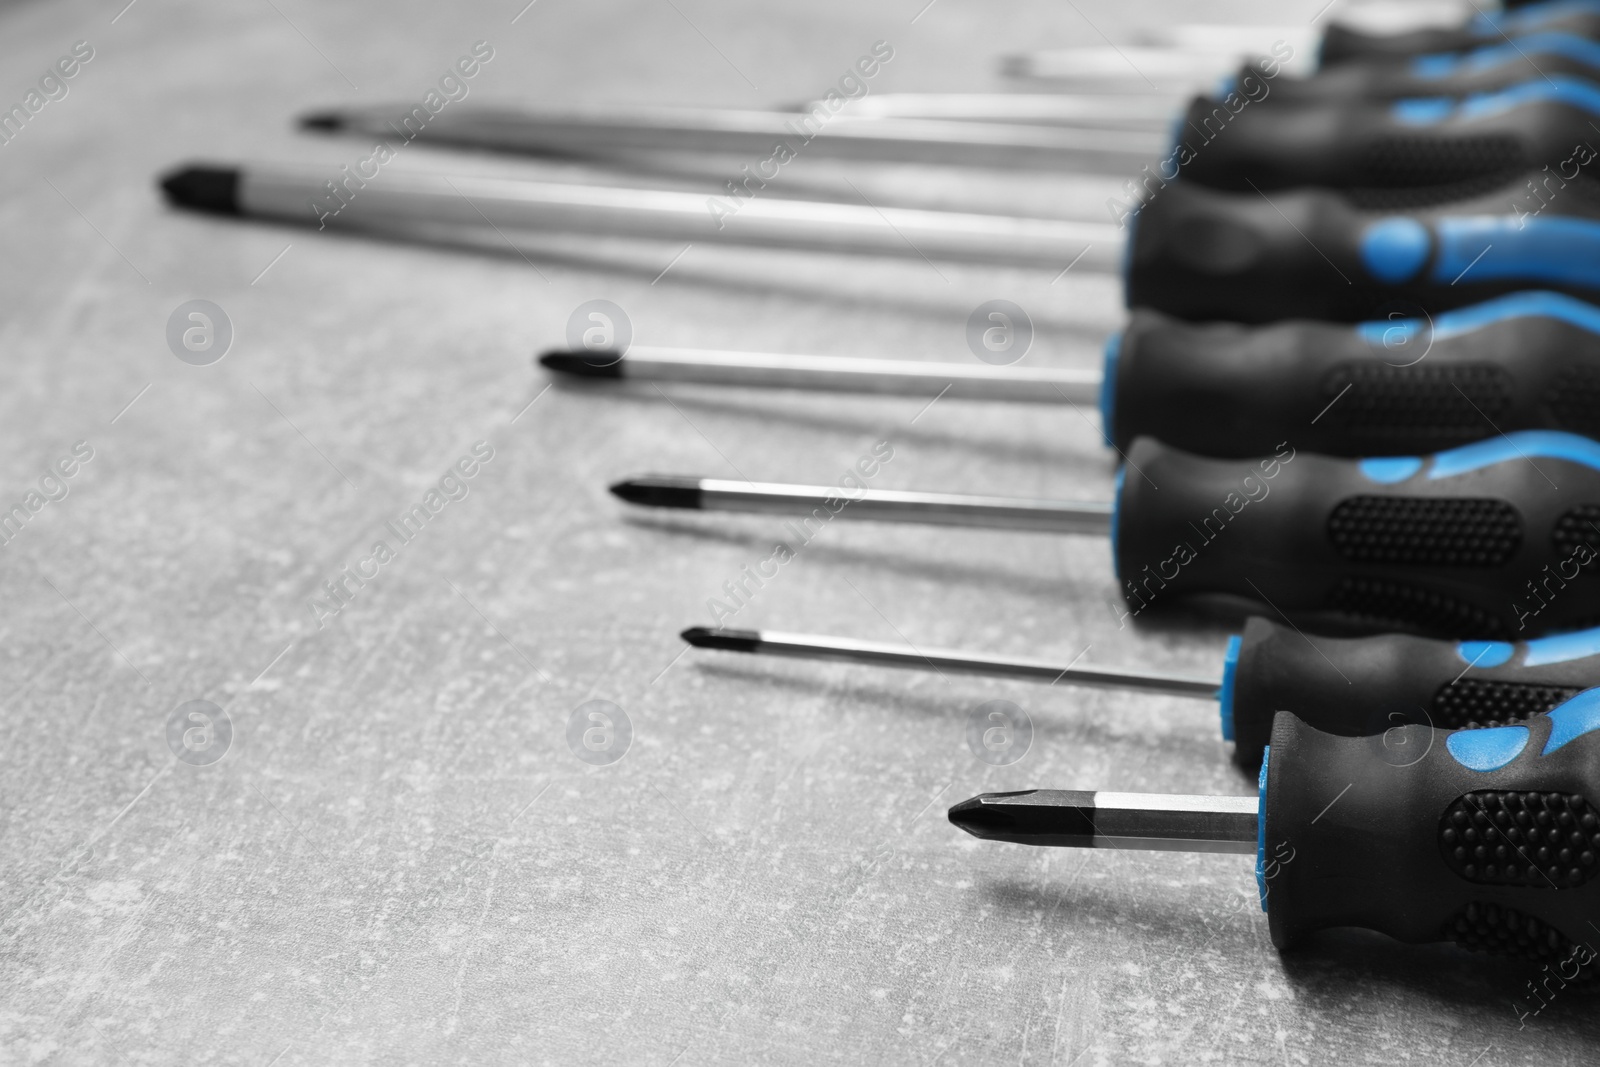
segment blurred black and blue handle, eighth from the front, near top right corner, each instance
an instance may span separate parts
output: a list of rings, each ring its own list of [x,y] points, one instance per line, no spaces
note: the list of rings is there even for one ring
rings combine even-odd
[[[1536,32],[1600,38],[1600,8],[1592,0],[1544,0],[1517,5],[1515,11],[1480,11],[1464,26],[1427,27],[1405,34],[1368,34],[1334,22],[1323,32],[1318,61],[1323,67],[1363,59],[1394,62],[1424,53],[1466,51]]]

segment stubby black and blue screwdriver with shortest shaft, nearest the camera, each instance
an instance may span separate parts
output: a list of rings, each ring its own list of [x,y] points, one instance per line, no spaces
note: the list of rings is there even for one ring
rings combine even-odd
[[[1597,689],[1525,723],[1381,741],[1285,712],[1254,797],[1037,789],[981,793],[949,817],[1018,845],[1254,853],[1278,949],[1360,926],[1592,976],[1594,950],[1576,953],[1600,913],[1595,729]]]

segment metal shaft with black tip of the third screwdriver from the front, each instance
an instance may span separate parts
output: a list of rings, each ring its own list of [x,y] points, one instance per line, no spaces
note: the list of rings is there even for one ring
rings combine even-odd
[[[622,499],[720,512],[803,515],[890,523],[986,526],[1034,533],[1107,534],[1112,506],[1093,501],[1019,501],[1003,496],[843,490],[722,478],[634,478],[611,488]],[[688,502],[693,498],[698,502]],[[680,502],[672,502],[674,499]]]

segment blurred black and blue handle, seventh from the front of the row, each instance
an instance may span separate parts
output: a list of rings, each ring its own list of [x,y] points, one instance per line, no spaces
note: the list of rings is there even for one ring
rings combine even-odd
[[[1251,88],[1246,77],[1262,77],[1245,66],[1219,98]],[[1400,62],[1371,56],[1325,67],[1302,78],[1277,78],[1269,86],[1275,104],[1315,101],[1398,99],[1405,96],[1467,96],[1493,93],[1544,75],[1600,77],[1600,43],[1576,34],[1534,32],[1515,42],[1498,40],[1470,51],[1435,53]]]

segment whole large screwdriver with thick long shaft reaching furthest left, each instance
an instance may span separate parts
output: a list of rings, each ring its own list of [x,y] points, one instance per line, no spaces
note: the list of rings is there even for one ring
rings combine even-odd
[[[960,125],[960,123],[958,123]],[[349,168],[346,168],[349,170]],[[362,182],[307,166],[189,165],[163,176],[181,208],[438,240],[482,232],[619,234],[707,243],[942,258],[1059,274],[1126,267],[1130,306],[1182,318],[1274,322],[1434,314],[1546,286],[1600,296],[1600,198],[1566,194],[1536,218],[1507,213],[1514,179],[1413,214],[1333,190],[1229,194],[1171,182],[1109,222],[874,208],[754,197],[718,218],[690,192],[392,173]],[[1587,179],[1586,179],[1587,181]],[[1133,208],[1125,205],[1131,213]],[[1525,214],[1531,214],[1531,210]]]

